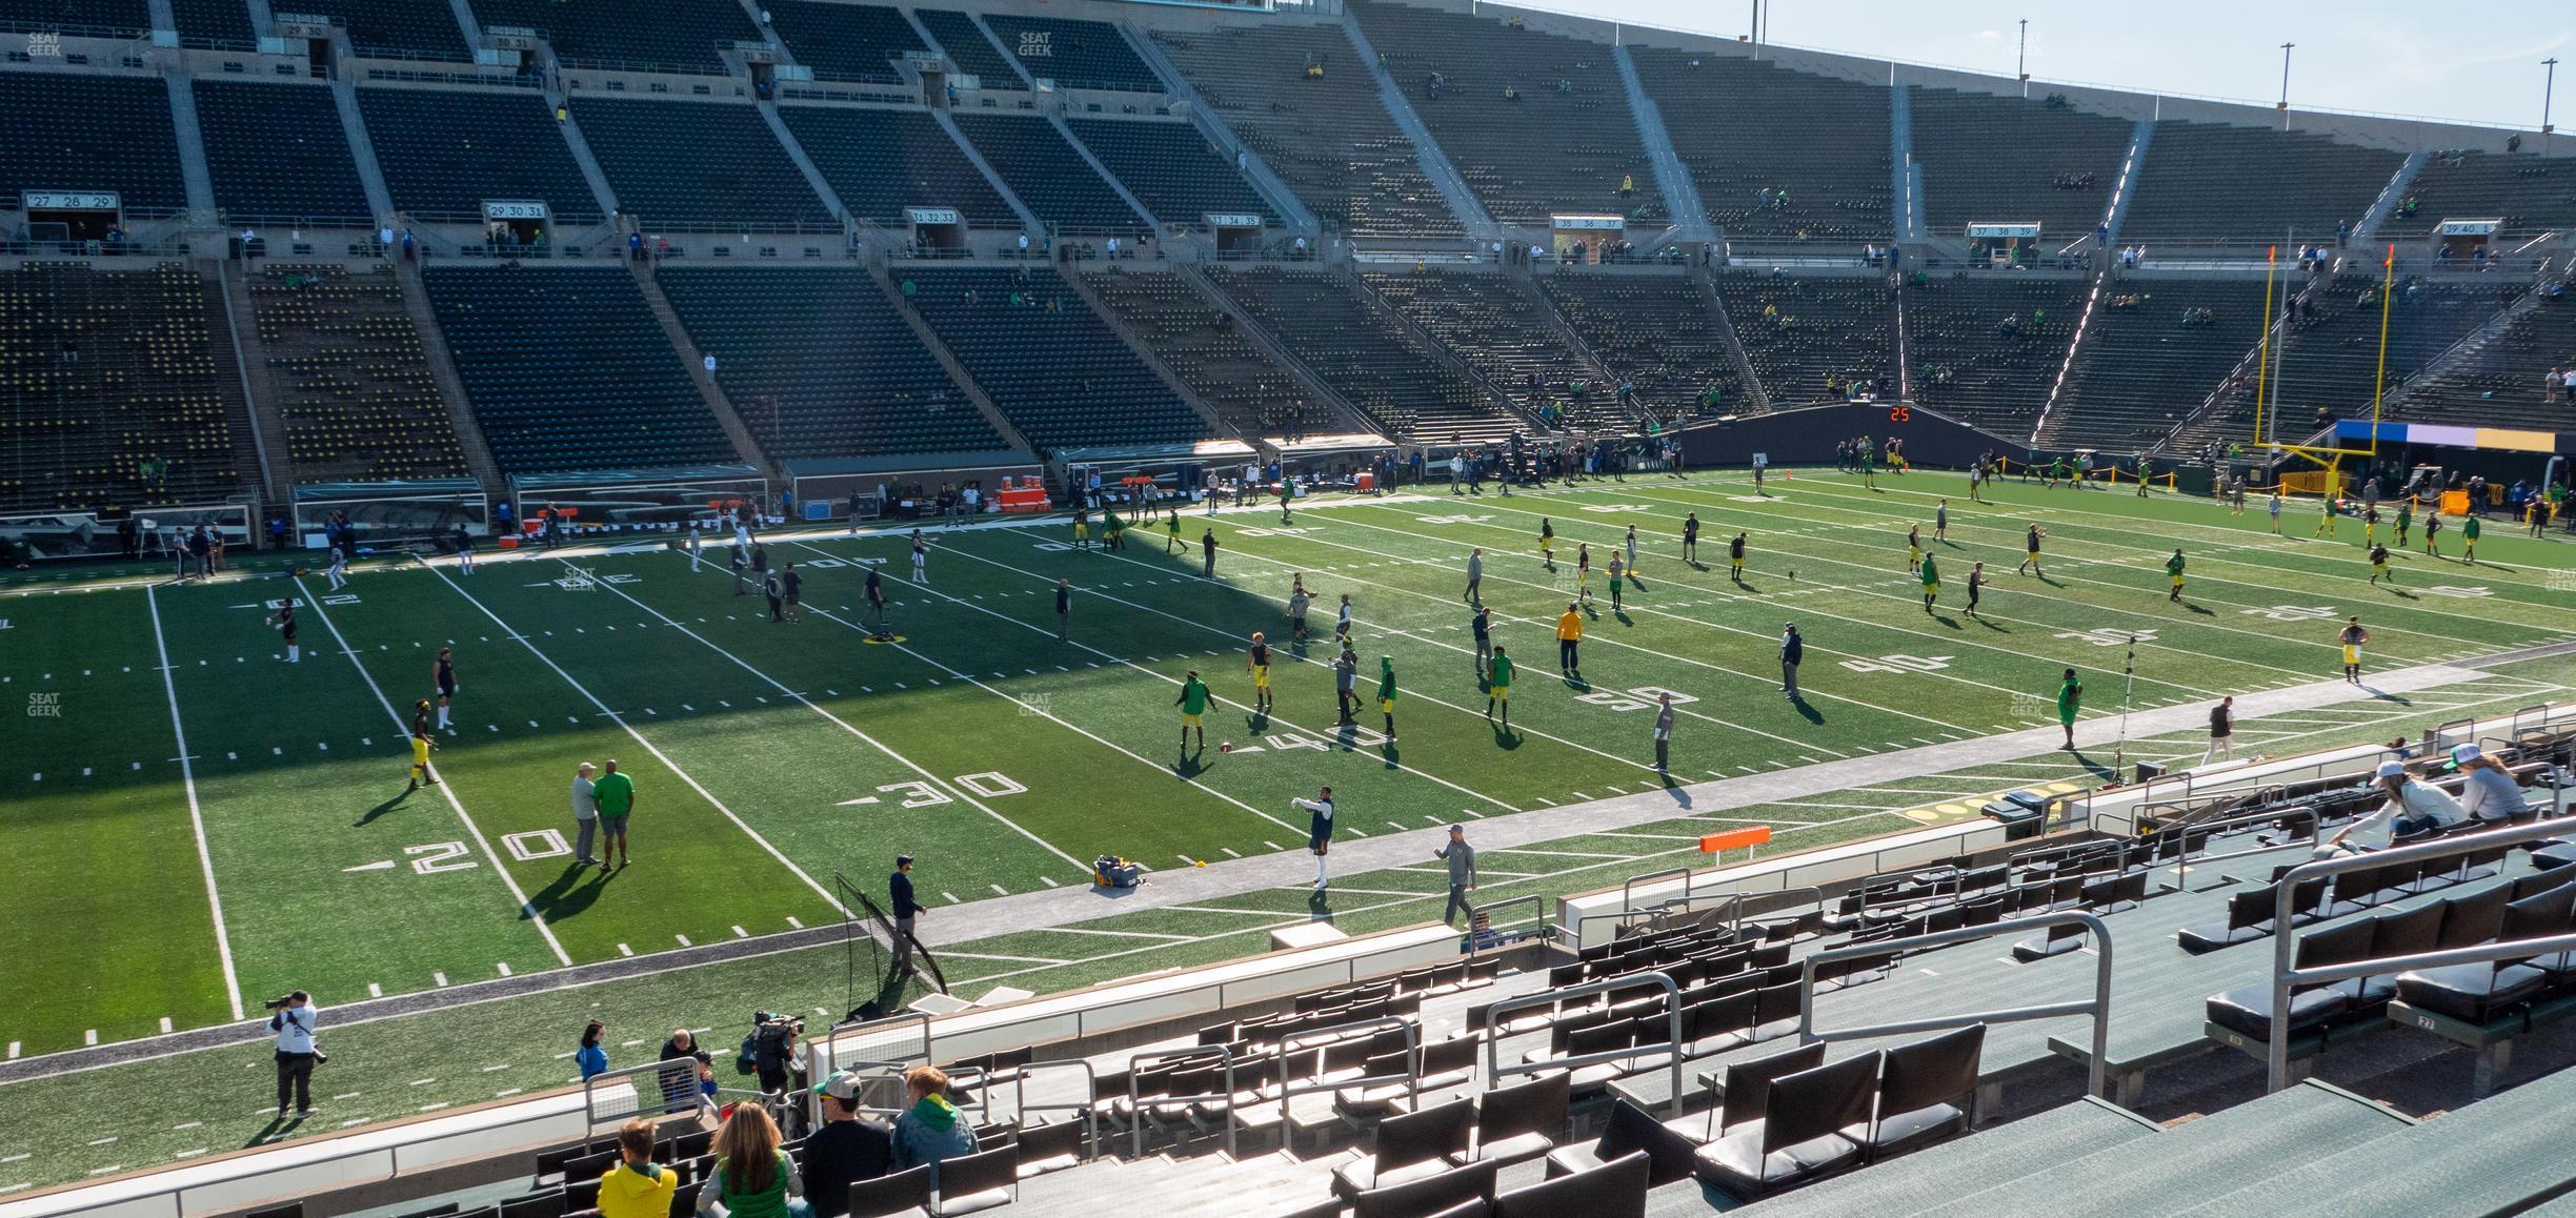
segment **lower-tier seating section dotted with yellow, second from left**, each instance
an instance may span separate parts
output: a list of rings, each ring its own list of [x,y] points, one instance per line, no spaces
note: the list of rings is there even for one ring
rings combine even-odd
[[[392,265],[263,265],[250,304],[296,482],[466,474]]]

